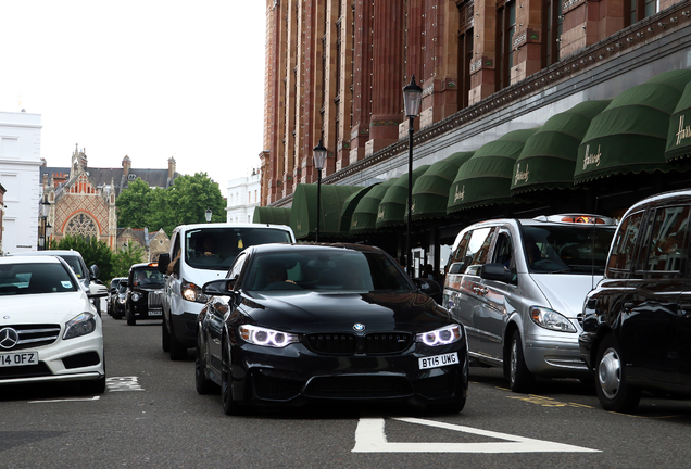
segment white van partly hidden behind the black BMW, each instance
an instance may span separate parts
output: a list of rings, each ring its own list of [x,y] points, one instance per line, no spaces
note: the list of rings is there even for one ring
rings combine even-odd
[[[173,231],[171,252],[159,257],[163,289],[163,351],[171,359],[187,357],[196,346],[197,316],[206,303],[204,283],[225,278],[237,255],[254,244],[292,243],[290,227],[261,224],[183,225]]]

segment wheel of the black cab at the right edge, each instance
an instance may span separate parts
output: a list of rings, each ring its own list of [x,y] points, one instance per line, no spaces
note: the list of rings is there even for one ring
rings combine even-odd
[[[595,389],[602,408],[618,413],[636,409],[641,390],[626,382],[619,344],[614,335],[607,335],[598,347],[595,364]]]

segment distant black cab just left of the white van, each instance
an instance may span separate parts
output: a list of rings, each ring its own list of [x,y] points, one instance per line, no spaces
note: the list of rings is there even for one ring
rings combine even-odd
[[[159,271],[156,263],[135,264],[129,268],[125,301],[127,325],[135,326],[137,319],[162,317],[163,283],[164,276]]]

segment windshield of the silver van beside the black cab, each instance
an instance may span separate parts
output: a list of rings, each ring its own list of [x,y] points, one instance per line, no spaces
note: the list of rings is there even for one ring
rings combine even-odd
[[[603,274],[616,227],[523,226],[533,274]]]

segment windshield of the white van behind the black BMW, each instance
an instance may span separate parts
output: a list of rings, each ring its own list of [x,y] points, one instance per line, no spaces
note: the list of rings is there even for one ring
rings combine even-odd
[[[227,270],[246,248],[290,242],[290,233],[282,229],[201,228],[186,233],[185,262],[199,269]]]

